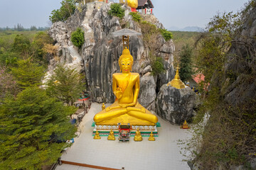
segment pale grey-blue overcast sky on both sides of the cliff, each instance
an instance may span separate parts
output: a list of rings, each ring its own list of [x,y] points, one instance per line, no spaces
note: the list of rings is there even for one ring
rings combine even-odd
[[[0,0],[0,27],[21,23],[24,28],[49,26],[53,9],[61,0]],[[154,15],[165,28],[198,26],[205,28],[218,11],[238,11],[248,0],[151,0]]]

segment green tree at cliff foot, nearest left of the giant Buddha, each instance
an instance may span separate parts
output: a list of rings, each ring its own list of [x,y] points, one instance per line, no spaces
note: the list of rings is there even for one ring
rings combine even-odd
[[[82,75],[75,69],[63,65],[58,65],[55,68],[46,85],[48,95],[54,96],[68,105],[72,105],[79,98],[82,90],[85,90]]]

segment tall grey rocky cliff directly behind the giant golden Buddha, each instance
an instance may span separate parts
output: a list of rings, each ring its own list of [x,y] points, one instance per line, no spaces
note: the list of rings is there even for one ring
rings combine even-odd
[[[123,21],[109,16],[107,11],[110,10],[111,4],[88,3],[81,12],[76,11],[66,23],[53,23],[48,32],[57,42],[56,45],[60,46],[60,61],[85,72],[87,89],[92,92],[92,100],[96,102],[114,102],[112,74],[119,72],[118,59],[122,55],[122,38],[114,38],[111,33],[122,29],[124,25],[141,32],[139,24],[132,21],[132,16],[129,15],[129,7],[122,6],[125,9]],[[163,28],[154,16],[150,17],[154,18],[152,21],[158,28]],[[80,50],[70,41],[71,33],[78,27],[85,31],[85,43]],[[172,40],[166,42],[163,37],[159,36],[161,45],[157,55],[164,59],[166,73],[159,77],[152,77],[146,74],[146,72],[151,72],[151,69],[146,69],[149,67],[149,52],[144,47],[142,38],[142,36],[130,37],[129,50],[134,57],[132,72],[141,74],[140,94],[143,95],[140,96],[143,97],[139,101],[144,107],[149,108],[156,98],[156,89],[160,89],[162,84],[174,78],[174,43]],[[150,96],[150,98],[144,96]]]

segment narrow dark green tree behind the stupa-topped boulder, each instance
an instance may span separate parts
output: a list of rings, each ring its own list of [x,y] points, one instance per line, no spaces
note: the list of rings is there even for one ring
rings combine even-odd
[[[192,48],[188,44],[183,45],[179,56],[181,57],[179,75],[182,81],[187,81],[193,74]]]

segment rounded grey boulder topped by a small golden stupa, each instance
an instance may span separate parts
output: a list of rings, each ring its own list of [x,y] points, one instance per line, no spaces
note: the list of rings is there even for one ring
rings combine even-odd
[[[191,120],[196,107],[196,94],[191,88],[176,89],[164,84],[156,98],[156,113],[170,123],[180,125]]]

